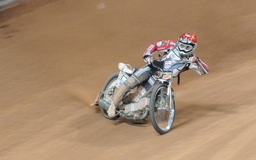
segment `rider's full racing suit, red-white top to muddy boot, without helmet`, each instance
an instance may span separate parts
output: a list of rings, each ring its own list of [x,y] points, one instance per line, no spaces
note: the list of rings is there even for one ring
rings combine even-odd
[[[209,68],[205,63],[200,60],[195,54],[183,55],[180,54],[179,50],[177,49],[177,45],[172,40],[163,40],[160,42],[153,42],[148,46],[146,51],[143,54],[144,61],[148,63],[145,67],[138,69],[131,77],[125,81],[118,90],[116,90],[113,98],[111,99],[111,104],[108,109],[108,116],[114,117],[115,110],[124,96],[132,89],[138,86],[138,84],[147,81],[156,71],[156,68],[152,67],[150,64],[150,57],[155,52],[163,52],[163,57],[172,59],[175,61],[179,61],[182,59],[189,60],[191,63],[189,65],[184,65],[173,70],[173,77],[177,77],[180,72],[184,72],[185,70],[193,69],[198,74],[205,75],[209,72]]]

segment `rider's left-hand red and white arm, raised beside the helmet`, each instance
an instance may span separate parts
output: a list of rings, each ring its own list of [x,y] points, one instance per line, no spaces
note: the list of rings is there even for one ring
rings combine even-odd
[[[166,52],[168,49],[174,47],[175,42],[172,40],[163,40],[159,42],[153,42],[150,44],[143,54],[144,61],[150,63],[149,58],[154,52]]]

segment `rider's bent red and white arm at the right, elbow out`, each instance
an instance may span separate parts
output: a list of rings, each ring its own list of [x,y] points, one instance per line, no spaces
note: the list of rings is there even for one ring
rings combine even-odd
[[[202,60],[200,60],[200,58],[193,56],[189,58],[189,61],[191,61],[189,69],[195,70],[201,76],[208,74],[209,67]]]

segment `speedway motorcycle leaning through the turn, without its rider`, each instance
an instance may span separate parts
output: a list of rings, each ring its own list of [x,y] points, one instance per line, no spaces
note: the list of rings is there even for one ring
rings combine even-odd
[[[99,106],[103,115],[109,120],[123,117],[127,120],[145,121],[150,116],[154,129],[159,134],[170,132],[175,117],[174,91],[172,88],[173,70],[188,64],[189,61],[173,61],[164,58],[153,58],[152,67],[157,68],[148,81],[136,86],[125,95],[121,104],[116,108],[114,117],[108,116],[110,100],[116,90],[138,68],[129,64],[119,63],[119,72],[108,78],[101,92],[98,93],[92,106]],[[179,77],[178,77],[179,83]]]

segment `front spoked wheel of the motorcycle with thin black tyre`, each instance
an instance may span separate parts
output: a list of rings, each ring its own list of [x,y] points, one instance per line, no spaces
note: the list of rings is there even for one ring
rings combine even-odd
[[[149,113],[151,123],[159,134],[170,132],[174,122],[175,102],[172,97],[170,105],[166,84],[159,83],[154,86],[150,97]]]

